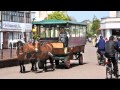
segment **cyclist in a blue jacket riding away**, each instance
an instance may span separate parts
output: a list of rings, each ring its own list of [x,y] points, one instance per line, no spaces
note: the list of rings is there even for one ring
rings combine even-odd
[[[97,44],[96,47],[98,47],[97,52],[102,57],[105,52],[105,40],[103,39],[102,36],[100,36],[100,39],[99,39],[98,43],[96,43],[96,44]]]

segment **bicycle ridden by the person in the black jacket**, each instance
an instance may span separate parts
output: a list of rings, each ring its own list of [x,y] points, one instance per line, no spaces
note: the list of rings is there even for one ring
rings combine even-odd
[[[112,58],[108,58],[105,64],[106,64],[106,79],[109,79],[109,77],[110,79],[112,79],[113,75],[115,76],[116,79],[118,79],[119,71],[117,71],[117,74],[114,73]]]

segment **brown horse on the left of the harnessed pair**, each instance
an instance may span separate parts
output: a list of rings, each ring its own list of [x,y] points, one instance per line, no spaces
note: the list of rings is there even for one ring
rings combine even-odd
[[[35,47],[32,44],[25,43],[23,44],[21,41],[17,42],[17,50],[16,54],[18,57],[18,61],[20,64],[20,72],[25,72],[25,66],[24,63],[26,60],[31,61],[32,63],[32,71],[36,71],[36,62],[37,60],[35,59]]]

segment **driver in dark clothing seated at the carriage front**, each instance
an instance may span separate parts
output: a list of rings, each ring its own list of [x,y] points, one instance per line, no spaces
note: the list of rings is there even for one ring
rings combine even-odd
[[[60,29],[59,42],[63,42],[64,47],[68,46],[68,36],[67,32],[64,30],[64,27]]]

